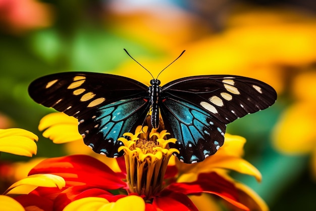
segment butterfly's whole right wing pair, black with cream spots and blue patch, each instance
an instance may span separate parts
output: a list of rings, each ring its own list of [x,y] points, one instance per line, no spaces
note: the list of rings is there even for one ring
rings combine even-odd
[[[224,143],[226,124],[271,106],[277,98],[266,83],[235,75],[177,79],[162,87],[165,128],[178,140],[179,159],[199,162]],[[186,131],[186,132],[183,132]]]

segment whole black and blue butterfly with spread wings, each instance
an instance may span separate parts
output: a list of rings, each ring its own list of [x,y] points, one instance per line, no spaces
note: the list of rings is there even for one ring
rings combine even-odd
[[[151,111],[150,124],[177,139],[171,148],[185,163],[213,155],[224,144],[226,125],[246,114],[268,108],[277,98],[267,83],[236,75],[184,77],[150,86],[113,74],[63,72],[40,77],[29,86],[31,98],[78,118],[84,143],[108,157],[119,157],[126,132],[142,125]]]

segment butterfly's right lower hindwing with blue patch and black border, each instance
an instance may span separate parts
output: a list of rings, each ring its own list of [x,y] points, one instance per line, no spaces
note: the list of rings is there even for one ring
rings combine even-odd
[[[195,105],[168,98],[162,103],[161,112],[165,128],[177,139],[169,145],[180,151],[180,161],[204,160],[223,145],[226,124]]]

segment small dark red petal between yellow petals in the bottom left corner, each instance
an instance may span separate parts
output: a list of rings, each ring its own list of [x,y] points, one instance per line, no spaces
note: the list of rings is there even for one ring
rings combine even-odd
[[[38,210],[44,210],[44,211],[53,211],[53,202],[45,197],[41,197],[41,196],[37,196],[34,194],[28,194],[28,195],[20,195],[14,198],[15,200],[17,200],[18,202],[20,202],[20,204],[23,207],[28,207],[28,206],[32,206],[32,210],[36,210],[34,209],[34,207],[38,207]],[[26,209],[26,210],[31,210],[31,209]]]

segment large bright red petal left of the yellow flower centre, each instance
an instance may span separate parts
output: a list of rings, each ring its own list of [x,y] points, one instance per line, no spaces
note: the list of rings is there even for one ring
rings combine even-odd
[[[101,189],[119,189],[126,187],[123,173],[115,173],[109,166],[87,155],[70,155],[48,158],[37,164],[29,173],[54,174],[66,181],[66,187],[87,185]]]

